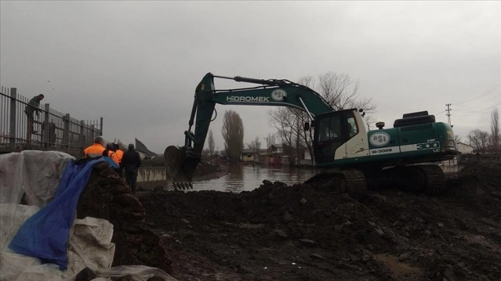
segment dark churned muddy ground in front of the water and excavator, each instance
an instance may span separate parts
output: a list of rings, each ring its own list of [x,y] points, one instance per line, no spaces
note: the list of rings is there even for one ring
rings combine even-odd
[[[141,207],[126,195],[132,230],[118,203],[99,215],[122,225],[113,241],[124,263],[114,265],[161,267],[177,280],[501,280],[501,164],[464,167],[449,187],[357,198],[279,182],[240,194],[157,189],[138,194]],[[95,204],[89,195],[81,209]]]

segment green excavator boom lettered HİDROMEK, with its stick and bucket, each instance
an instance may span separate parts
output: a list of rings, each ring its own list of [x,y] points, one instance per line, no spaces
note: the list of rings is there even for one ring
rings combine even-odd
[[[217,90],[214,78],[260,84],[232,90]],[[184,146],[169,146],[164,152],[167,174],[175,188],[193,188],[191,180],[200,162],[215,105],[271,105],[293,107],[308,113],[311,121],[318,114],[332,112],[333,108],[309,87],[288,80],[252,79],[241,76],[215,76],[208,73],[195,88],[188,130],[184,132]],[[192,127],[195,125],[195,132]]]

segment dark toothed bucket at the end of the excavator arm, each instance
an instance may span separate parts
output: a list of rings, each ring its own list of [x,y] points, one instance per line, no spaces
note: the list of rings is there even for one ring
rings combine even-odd
[[[191,180],[200,158],[194,156],[186,147],[170,145],[165,149],[167,174],[175,189],[193,189]]]

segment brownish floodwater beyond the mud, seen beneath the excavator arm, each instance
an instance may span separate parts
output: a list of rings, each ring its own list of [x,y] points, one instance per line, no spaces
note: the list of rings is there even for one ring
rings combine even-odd
[[[215,190],[239,193],[258,188],[263,180],[270,180],[272,183],[278,180],[287,185],[294,185],[304,183],[315,174],[317,174],[315,168],[267,167],[237,163],[228,166],[228,174],[221,178],[193,183],[193,191]]]

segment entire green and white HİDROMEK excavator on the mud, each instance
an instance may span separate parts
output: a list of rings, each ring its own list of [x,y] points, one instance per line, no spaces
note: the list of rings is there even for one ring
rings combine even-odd
[[[214,79],[259,84],[217,90]],[[334,110],[317,92],[286,79],[253,79],[207,73],[195,88],[183,146],[165,149],[167,174],[175,189],[193,189],[193,174],[202,156],[215,105],[268,105],[303,110],[313,131],[313,155],[320,173],[304,182],[317,189],[357,194],[395,185],[429,194],[439,193],[446,176],[435,165],[457,153],[452,127],[427,111],[403,114],[384,129],[368,130],[363,109]],[[311,122],[311,125],[310,125]],[[192,127],[195,124],[195,132]]]

